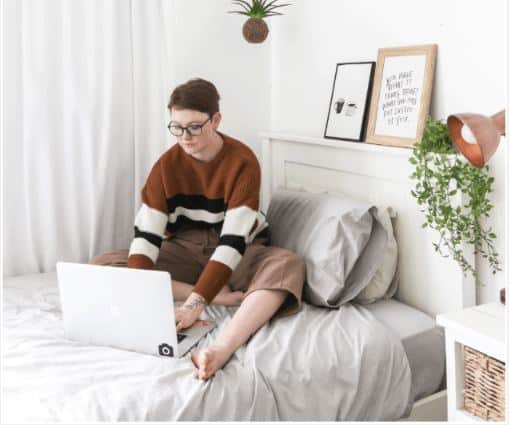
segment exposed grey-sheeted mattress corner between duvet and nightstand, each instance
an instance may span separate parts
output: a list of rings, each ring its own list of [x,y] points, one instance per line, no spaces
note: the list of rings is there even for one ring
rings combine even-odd
[[[412,398],[420,400],[438,391],[445,378],[443,329],[432,317],[395,299],[365,307],[401,340],[412,372]]]

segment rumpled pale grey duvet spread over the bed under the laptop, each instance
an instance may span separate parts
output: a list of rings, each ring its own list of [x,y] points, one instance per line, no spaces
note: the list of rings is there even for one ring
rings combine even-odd
[[[349,303],[265,325],[207,382],[189,355],[67,341],[54,273],[6,279],[3,308],[2,422],[391,420],[413,401],[400,340]],[[234,311],[208,307],[219,328],[200,345]]]

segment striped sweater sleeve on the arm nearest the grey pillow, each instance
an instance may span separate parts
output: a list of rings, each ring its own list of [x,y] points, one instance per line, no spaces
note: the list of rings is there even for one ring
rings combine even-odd
[[[210,303],[228,282],[257,232],[266,227],[263,214],[258,212],[260,167],[258,161],[246,166],[235,181],[228,200],[219,243],[205,265],[193,292]]]

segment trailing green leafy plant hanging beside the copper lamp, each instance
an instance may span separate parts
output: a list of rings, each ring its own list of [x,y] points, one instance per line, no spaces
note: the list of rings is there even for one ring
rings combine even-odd
[[[495,250],[496,234],[481,223],[490,216],[493,204],[494,178],[489,167],[476,168],[463,160],[453,147],[446,124],[426,119],[423,137],[410,156],[415,166],[411,179],[416,180],[412,196],[425,214],[422,227],[436,230],[440,239],[433,243],[435,251],[451,257],[464,274],[472,273],[479,284],[474,266],[465,258],[462,243],[472,245],[475,254],[487,259],[492,273],[500,271]]]

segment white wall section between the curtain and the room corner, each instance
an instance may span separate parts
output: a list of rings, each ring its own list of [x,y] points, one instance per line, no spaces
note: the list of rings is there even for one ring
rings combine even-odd
[[[176,0],[177,81],[202,77],[221,95],[220,130],[261,154],[258,133],[269,125],[270,44],[249,44],[242,36],[245,16],[230,0]],[[269,34],[269,39],[271,34]]]

